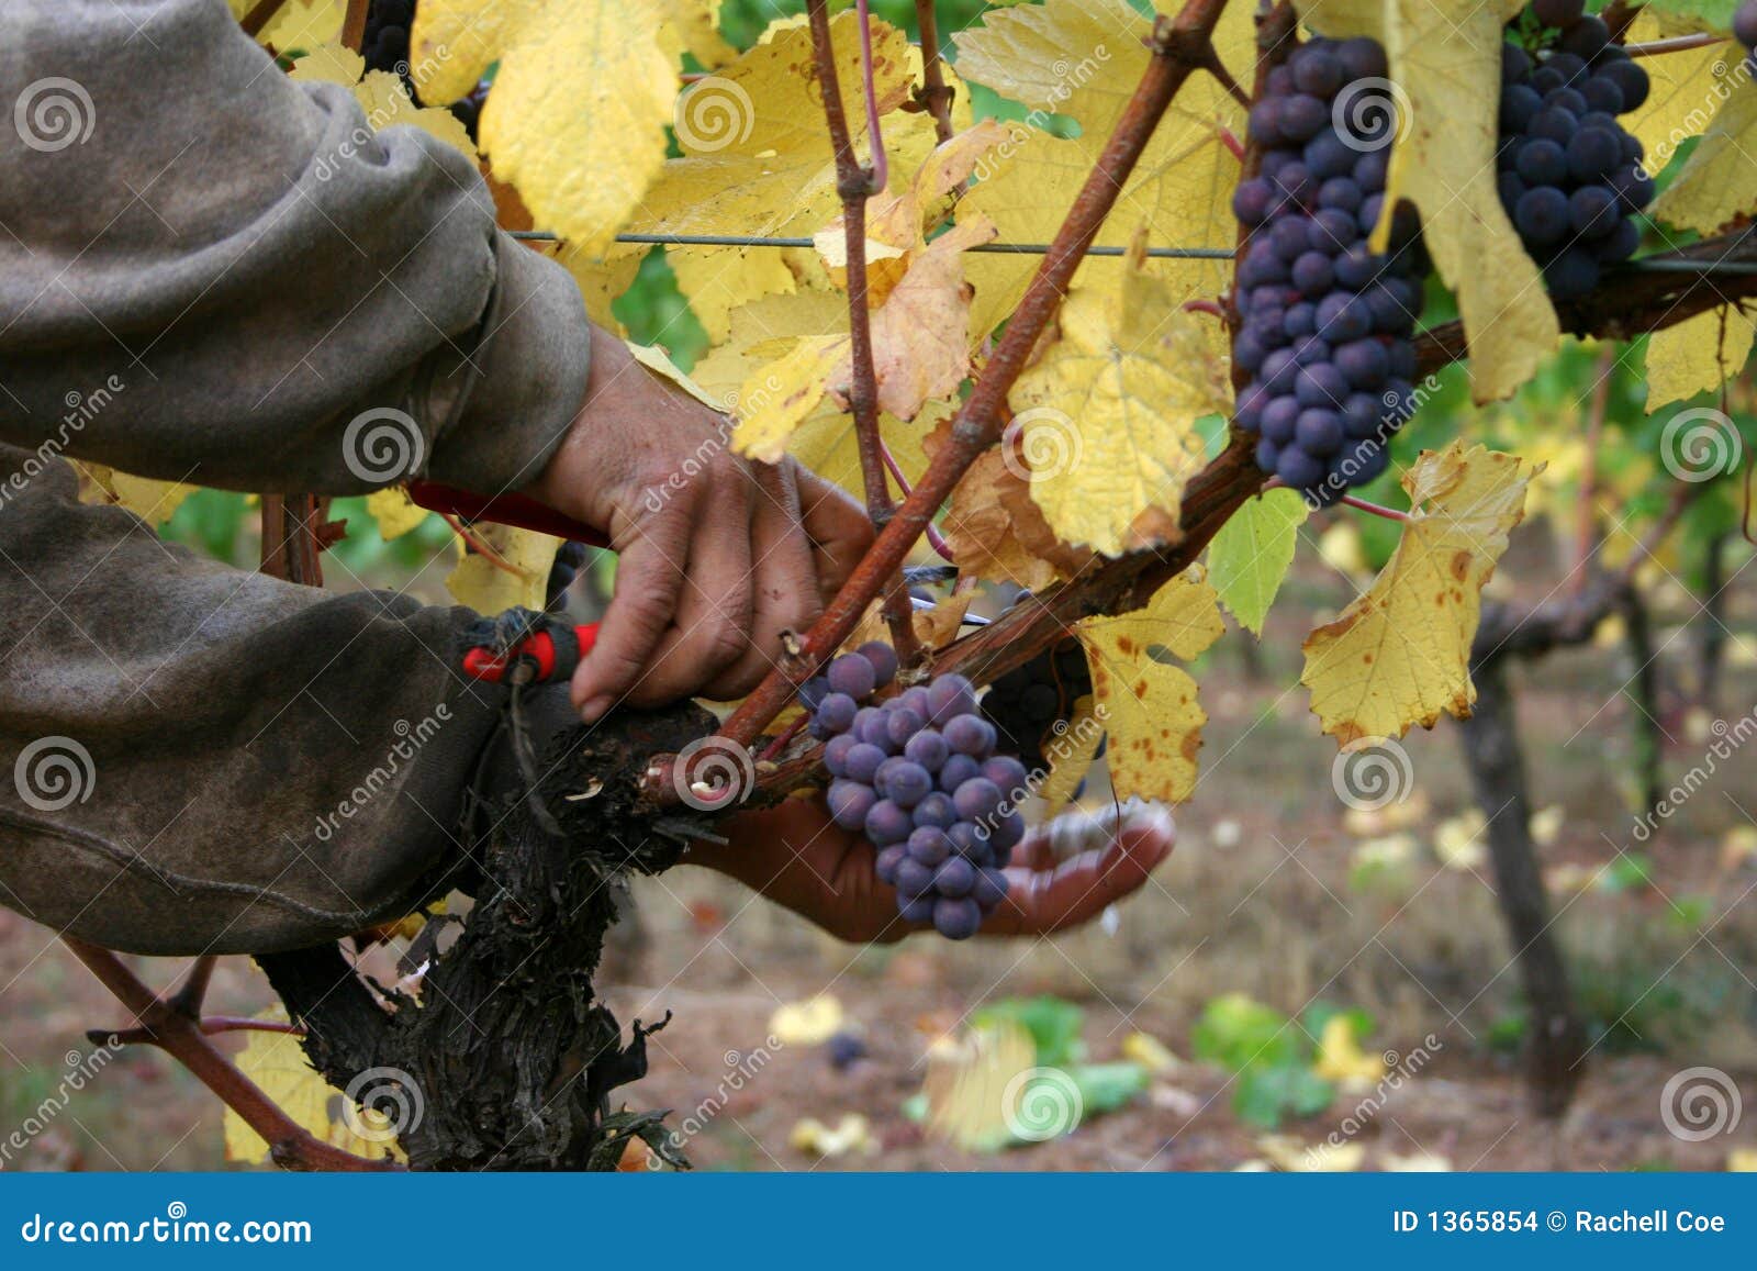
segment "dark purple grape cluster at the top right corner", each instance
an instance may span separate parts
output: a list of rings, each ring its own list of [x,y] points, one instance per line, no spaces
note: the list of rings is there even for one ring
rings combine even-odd
[[[1558,301],[1599,285],[1641,243],[1634,214],[1653,199],[1641,142],[1616,123],[1648,97],[1648,74],[1611,42],[1583,0],[1537,0],[1536,54],[1500,58],[1500,206]]]

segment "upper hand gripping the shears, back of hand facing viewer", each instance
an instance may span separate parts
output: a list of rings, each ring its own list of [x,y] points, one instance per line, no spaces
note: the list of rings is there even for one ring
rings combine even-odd
[[[573,677],[587,723],[618,703],[736,698],[854,571],[871,522],[792,459],[731,452],[726,417],[594,329],[573,427],[527,494],[620,554],[597,643]]]

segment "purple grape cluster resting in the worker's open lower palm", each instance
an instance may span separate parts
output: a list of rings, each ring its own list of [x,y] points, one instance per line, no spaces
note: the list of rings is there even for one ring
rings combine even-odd
[[[896,654],[875,640],[799,693],[824,738],[829,814],[878,849],[878,879],[896,888],[905,919],[965,941],[1007,895],[1024,765],[994,752],[994,726],[963,675],[866,705],[894,677]]]

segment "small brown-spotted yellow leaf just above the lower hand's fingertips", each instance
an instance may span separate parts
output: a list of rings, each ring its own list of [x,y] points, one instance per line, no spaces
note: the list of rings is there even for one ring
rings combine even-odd
[[[1172,659],[1189,661],[1225,629],[1219,596],[1200,568],[1160,587],[1142,610],[1079,624],[1093,710],[1110,733],[1105,759],[1117,798],[1189,798],[1207,712],[1197,703],[1197,682]]]

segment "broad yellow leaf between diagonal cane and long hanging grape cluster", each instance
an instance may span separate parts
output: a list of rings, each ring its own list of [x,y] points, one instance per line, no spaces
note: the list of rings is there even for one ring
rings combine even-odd
[[[1232,404],[1179,306],[1139,257],[1119,290],[1075,287],[1061,339],[1009,396],[1031,498],[1068,543],[1117,556],[1177,536],[1184,485],[1207,459],[1195,422]]]

